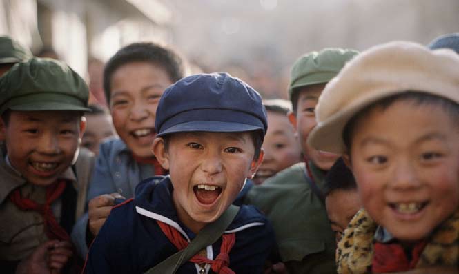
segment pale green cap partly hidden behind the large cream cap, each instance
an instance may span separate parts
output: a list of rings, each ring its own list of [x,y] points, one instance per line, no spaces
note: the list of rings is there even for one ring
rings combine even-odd
[[[329,82],[357,54],[355,50],[324,48],[320,52],[309,52],[297,59],[291,70],[290,99],[296,88]]]

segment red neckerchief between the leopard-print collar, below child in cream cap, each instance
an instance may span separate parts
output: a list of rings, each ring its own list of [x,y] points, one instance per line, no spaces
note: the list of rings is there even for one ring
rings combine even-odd
[[[415,268],[426,244],[426,241],[418,242],[411,250],[411,260],[409,261],[401,244],[397,242],[390,244],[375,242],[371,264],[372,273],[409,271]]]

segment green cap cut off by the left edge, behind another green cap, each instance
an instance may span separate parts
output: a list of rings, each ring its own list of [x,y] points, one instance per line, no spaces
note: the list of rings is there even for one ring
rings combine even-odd
[[[18,63],[32,58],[32,52],[8,36],[0,36],[0,64]]]

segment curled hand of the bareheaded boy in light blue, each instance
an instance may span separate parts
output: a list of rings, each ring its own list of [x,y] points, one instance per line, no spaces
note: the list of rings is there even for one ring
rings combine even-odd
[[[126,199],[119,193],[104,194],[94,197],[89,201],[88,225],[92,235],[97,236],[104,225],[110,211],[115,204],[115,199]]]

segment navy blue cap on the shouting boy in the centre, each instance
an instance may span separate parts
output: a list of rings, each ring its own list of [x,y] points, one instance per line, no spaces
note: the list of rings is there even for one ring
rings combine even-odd
[[[157,136],[191,131],[243,132],[268,128],[262,97],[228,73],[191,75],[169,86],[156,110]]]

